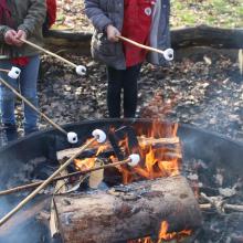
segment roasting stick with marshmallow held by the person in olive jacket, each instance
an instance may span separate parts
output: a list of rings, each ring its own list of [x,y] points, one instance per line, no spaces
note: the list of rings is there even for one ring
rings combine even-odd
[[[30,42],[30,41],[28,41],[28,40],[21,39],[21,41],[22,41],[23,43],[25,43],[25,44],[28,44],[28,45],[34,47],[34,49],[38,49],[39,51],[42,51],[42,52],[44,52],[44,53],[46,53],[46,54],[49,54],[49,55],[51,55],[51,56],[53,56],[53,57],[55,57],[55,59],[59,59],[60,61],[62,61],[62,62],[68,64],[70,66],[73,66],[73,67],[76,70],[76,73],[77,73],[78,75],[85,75],[85,74],[86,74],[86,67],[85,67],[85,66],[83,66],[83,65],[76,65],[75,63],[73,63],[73,62],[71,62],[71,61],[68,61],[68,60],[66,60],[66,59],[64,59],[64,57],[62,57],[62,56],[60,56],[60,55],[57,55],[57,54],[55,54],[55,53],[53,53],[53,52],[50,52],[49,50],[43,49],[43,47],[41,47],[40,45],[36,45],[36,44],[34,44],[34,43],[32,43],[32,42]]]

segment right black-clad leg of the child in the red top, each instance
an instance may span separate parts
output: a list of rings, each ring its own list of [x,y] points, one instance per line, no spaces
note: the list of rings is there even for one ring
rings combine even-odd
[[[124,87],[124,117],[135,117],[137,109],[137,81],[141,64],[128,67],[125,71],[123,87]]]

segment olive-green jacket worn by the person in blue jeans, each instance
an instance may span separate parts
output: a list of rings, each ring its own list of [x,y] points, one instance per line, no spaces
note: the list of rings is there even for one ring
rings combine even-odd
[[[42,45],[42,24],[45,20],[45,0],[7,0],[11,11],[13,27],[0,24],[0,59],[35,55],[38,51],[27,44],[21,47],[4,43],[4,34],[8,30],[23,30],[28,40]]]

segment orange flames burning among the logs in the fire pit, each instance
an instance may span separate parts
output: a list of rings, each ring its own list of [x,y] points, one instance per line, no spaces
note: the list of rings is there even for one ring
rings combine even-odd
[[[113,131],[115,130],[112,128]],[[112,130],[110,129],[110,130]],[[159,177],[172,177],[180,173],[181,165],[181,146],[180,140],[177,137],[178,124],[161,124],[155,123],[150,128],[148,127],[135,127],[137,140],[139,142],[138,148],[129,148],[128,137],[119,140],[119,148],[125,154],[139,152],[141,161],[138,166],[130,168],[127,165],[117,167],[123,176],[123,182],[125,184],[139,179],[155,179]],[[168,141],[168,142],[167,142]],[[104,146],[95,145],[93,149],[96,151],[94,158],[76,159],[75,166],[80,170],[91,169],[95,166],[96,157],[104,151],[112,148],[109,142]],[[135,150],[133,150],[135,149]],[[109,160],[116,162],[117,158],[110,156]],[[178,240],[191,234],[190,230],[181,232],[168,232],[169,224],[166,221],[161,222],[161,226],[158,234],[158,242]],[[128,241],[127,243],[155,243],[151,237]]]

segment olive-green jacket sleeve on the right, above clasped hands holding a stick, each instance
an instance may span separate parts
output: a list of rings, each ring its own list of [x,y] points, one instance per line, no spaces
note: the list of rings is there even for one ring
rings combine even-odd
[[[46,3],[44,0],[30,0],[28,14],[23,23],[18,27],[18,30],[27,32],[28,36],[32,35],[38,28],[42,28],[46,15]]]

